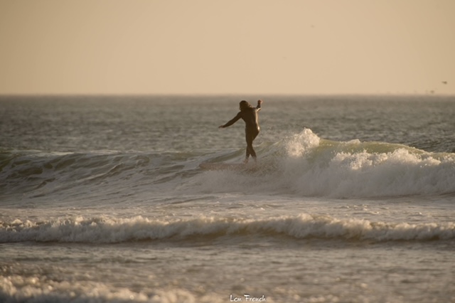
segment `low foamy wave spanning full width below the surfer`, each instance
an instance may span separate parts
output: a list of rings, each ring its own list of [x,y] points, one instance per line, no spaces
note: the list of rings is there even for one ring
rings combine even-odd
[[[134,218],[58,218],[42,222],[13,220],[0,223],[0,243],[129,243],[144,240],[230,240],[242,236],[265,239],[385,241],[454,240],[455,223],[385,223],[331,216],[278,218],[198,218],[151,220]]]

